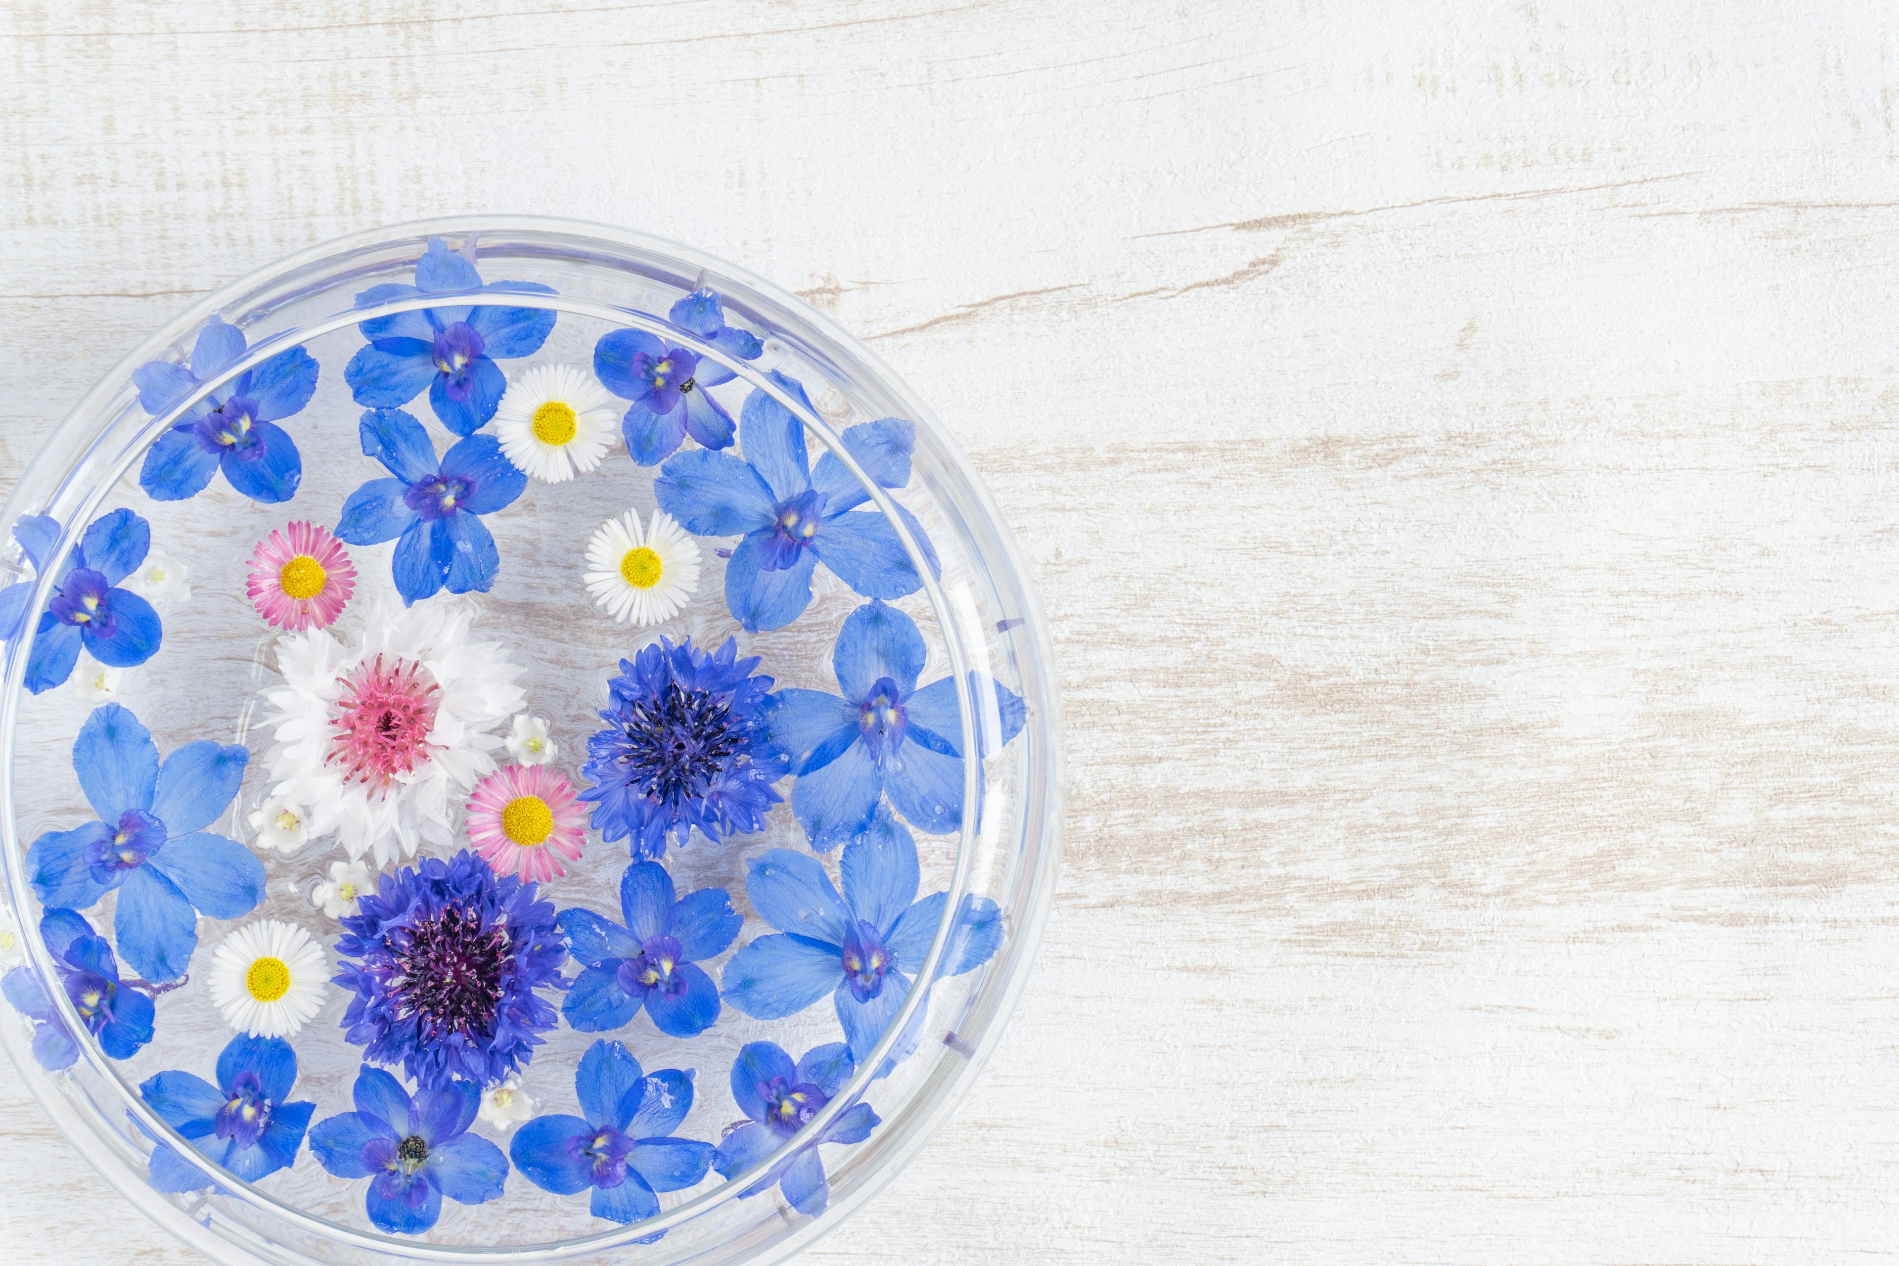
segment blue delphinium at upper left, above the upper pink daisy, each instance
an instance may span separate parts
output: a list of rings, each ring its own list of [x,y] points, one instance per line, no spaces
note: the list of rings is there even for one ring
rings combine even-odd
[[[133,370],[139,404],[152,416],[163,414],[243,353],[243,330],[211,317],[192,347],[190,368],[152,361]],[[216,387],[158,437],[139,467],[139,486],[154,501],[184,501],[224,471],[230,486],[253,501],[289,501],[304,480],[304,459],[283,427],[272,423],[300,412],[315,389],[317,363],[310,353],[279,351]]]

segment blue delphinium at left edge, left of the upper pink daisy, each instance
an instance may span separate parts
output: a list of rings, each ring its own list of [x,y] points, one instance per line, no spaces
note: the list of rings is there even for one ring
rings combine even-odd
[[[23,514],[13,524],[27,562],[38,571],[59,543],[59,520]],[[131,511],[101,514],[66,554],[53,586],[53,598],[40,615],[27,659],[27,689],[44,695],[72,676],[80,647],[108,668],[131,668],[158,655],[165,636],[152,604],[118,588],[139,569],[152,549],[152,526]],[[0,638],[11,642],[21,632],[32,585],[0,588]]]

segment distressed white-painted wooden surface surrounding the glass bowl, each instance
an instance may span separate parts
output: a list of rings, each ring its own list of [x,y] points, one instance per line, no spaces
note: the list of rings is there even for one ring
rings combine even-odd
[[[234,275],[651,230],[942,410],[1062,898],[805,1260],[1899,1253],[1884,0],[8,0],[0,471]],[[190,1255],[0,1072],[21,1266]]]

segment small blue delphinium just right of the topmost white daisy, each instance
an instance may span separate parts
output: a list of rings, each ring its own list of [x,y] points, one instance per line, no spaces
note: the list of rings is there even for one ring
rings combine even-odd
[[[706,289],[674,304],[668,319],[741,361],[756,361],[765,349],[756,334],[725,325],[718,294]],[[706,391],[733,380],[718,361],[701,361],[644,330],[613,330],[594,344],[594,376],[613,395],[632,400],[621,431],[640,465],[659,465],[687,435],[705,448],[731,444],[731,414]]]

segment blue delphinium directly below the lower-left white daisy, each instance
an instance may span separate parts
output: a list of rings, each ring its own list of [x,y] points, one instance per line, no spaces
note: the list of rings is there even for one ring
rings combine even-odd
[[[139,1086],[139,1095],[194,1148],[245,1182],[296,1164],[296,1148],[304,1145],[317,1105],[289,1103],[296,1084],[291,1044],[239,1033],[224,1044],[216,1074],[218,1084],[213,1086],[192,1072],[160,1072]],[[160,1146],[169,1154],[152,1158],[152,1181],[160,1190],[211,1186],[211,1179],[186,1165],[169,1145]]]

